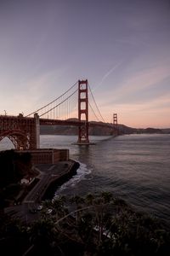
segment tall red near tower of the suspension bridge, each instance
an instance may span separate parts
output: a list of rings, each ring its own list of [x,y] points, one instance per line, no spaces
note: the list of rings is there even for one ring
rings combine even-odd
[[[77,144],[89,144],[88,139],[88,80],[78,80],[78,127]]]

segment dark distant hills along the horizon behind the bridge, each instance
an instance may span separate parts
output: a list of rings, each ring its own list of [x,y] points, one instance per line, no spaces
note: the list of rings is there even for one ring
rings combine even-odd
[[[73,119],[77,120],[77,119]],[[101,122],[92,122],[95,126],[89,126],[89,135],[96,136],[109,136],[112,134],[112,130],[110,127],[103,125]],[[108,126],[112,124],[108,123]],[[146,129],[138,129],[133,127],[128,127],[126,125],[118,125],[119,134],[133,134],[133,133],[170,133],[169,129],[156,129],[156,128],[146,128]],[[42,135],[77,135],[78,127],[77,126],[66,126],[66,125],[41,125],[40,126],[40,134]]]

